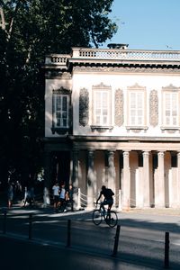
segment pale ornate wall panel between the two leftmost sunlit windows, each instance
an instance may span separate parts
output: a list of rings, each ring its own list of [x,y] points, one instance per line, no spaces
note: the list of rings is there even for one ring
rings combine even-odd
[[[114,122],[115,125],[121,127],[123,124],[123,92],[121,89],[117,89],[115,91],[115,115],[114,115]]]

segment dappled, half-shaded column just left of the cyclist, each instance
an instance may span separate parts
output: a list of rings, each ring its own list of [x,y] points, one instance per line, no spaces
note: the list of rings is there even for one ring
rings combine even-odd
[[[87,207],[93,208],[94,206],[94,193],[96,183],[94,179],[94,151],[88,151],[88,168],[87,168]]]

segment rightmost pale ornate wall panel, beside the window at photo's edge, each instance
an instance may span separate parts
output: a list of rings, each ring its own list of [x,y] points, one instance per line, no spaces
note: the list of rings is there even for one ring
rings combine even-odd
[[[157,90],[152,90],[149,96],[149,123],[153,127],[158,124],[158,95]]]

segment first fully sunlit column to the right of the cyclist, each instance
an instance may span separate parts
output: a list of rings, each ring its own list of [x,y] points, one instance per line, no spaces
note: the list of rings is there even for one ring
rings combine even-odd
[[[123,178],[121,182],[121,207],[130,208],[130,153],[123,152]]]

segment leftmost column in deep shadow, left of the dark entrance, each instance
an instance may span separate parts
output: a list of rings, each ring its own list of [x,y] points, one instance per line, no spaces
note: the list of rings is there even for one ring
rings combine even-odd
[[[50,204],[50,153],[45,151],[44,153],[44,194],[43,194],[43,202],[44,206]]]

